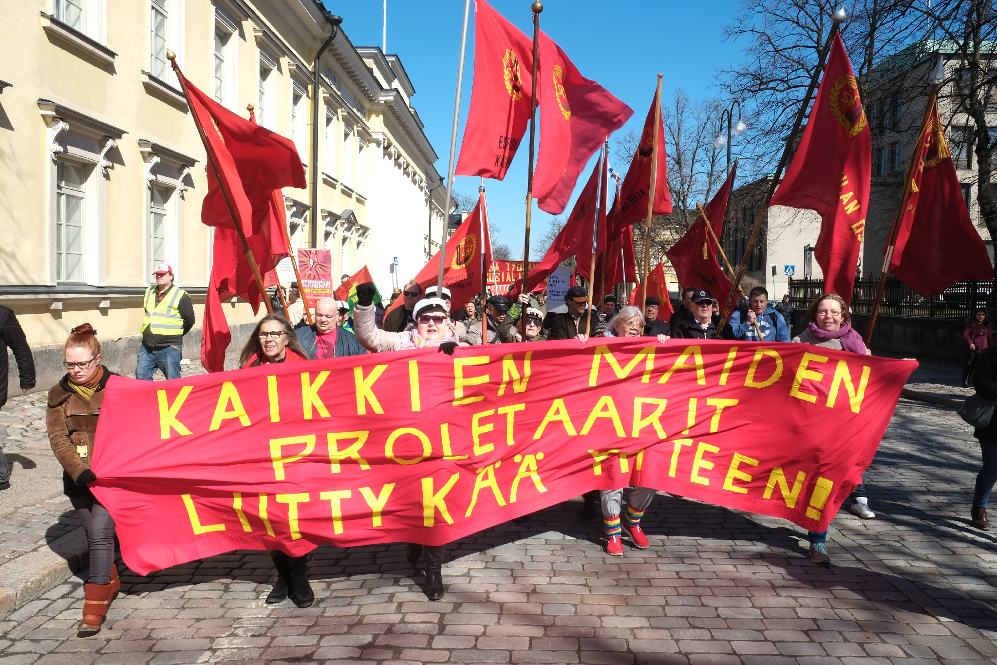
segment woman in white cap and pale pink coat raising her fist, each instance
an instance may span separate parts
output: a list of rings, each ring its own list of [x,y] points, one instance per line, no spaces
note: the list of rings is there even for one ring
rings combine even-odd
[[[360,345],[372,353],[404,351],[407,349],[435,350],[453,355],[458,346],[454,325],[447,314],[447,303],[442,298],[424,298],[413,308],[416,325],[407,332],[388,332],[374,325],[374,282],[357,286],[357,304],[353,307],[353,329]],[[426,552],[426,597],[439,600],[444,595],[443,557],[447,545],[423,545],[410,542],[406,557],[416,565],[419,556]]]

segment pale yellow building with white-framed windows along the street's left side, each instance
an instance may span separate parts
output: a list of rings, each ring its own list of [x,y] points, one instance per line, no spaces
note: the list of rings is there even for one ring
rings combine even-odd
[[[167,49],[193,85],[236,113],[253,105],[261,125],[292,139],[309,182],[320,169],[317,215],[310,189],[284,190],[289,231],[295,247],[332,250],[336,284],[366,264],[390,292],[425,262],[431,210],[442,223],[445,189],[430,201],[438,156],[399,56],[354,47],[348,25],[318,63],[311,164],[314,58],[332,30],[320,3],[25,0],[5,4],[3,18],[0,304],[41,366],[61,375],[61,357],[42,347],[89,321],[102,341],[117,340],[113,369],[134,371],[142,296],[164,261],[194,302],[184,357],[198,356],[211,267],[206,159]],[[413,227],[423,242],[400,240]],[[231,324],[252,319],[245,303],[225,312]],[[43,376],[39,386],[51,385]]]

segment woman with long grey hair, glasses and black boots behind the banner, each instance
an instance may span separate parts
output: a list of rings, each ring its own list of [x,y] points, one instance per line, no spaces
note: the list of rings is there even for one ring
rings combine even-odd
[[[308,360],[308,354],[301,348],[291,324],[279,314],[267,314],[242,347],[239,368],[304,360]],[[278,549],[270,552],[270,558],[277,569],[277,581],[264,602],[272,605],[290,598],[298,607],[310,607],[315,602],[315,592],[308,583],[308,554],[288,556]]]

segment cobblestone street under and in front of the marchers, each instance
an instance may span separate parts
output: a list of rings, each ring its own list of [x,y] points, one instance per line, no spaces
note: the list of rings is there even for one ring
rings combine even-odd
[[[876,519],[838,513],[830,569],[790,522],[666,495],[651,547],[609,557],[567,501],[453,543],[439,602],[401,544],[315,550],[306,609],[265,605],[269,557],[232,552],[126,572],[80,639],[71,580],[0,621],[0,665],[997,663],[997,538],[967,523],[978,465],[951,409],[904,399],[866,475]]]

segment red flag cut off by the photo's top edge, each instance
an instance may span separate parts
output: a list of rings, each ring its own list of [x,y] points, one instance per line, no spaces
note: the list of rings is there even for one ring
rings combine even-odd
[[[533,40],[475,0],[475,86],[457,175],[502,179],[529,122]]]

